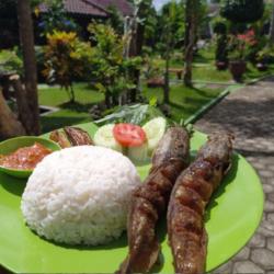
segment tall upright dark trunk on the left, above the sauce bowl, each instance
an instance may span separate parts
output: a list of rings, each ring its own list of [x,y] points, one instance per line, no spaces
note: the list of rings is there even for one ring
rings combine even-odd
[[[37,70],[34,50],[32,12],[28,0],[18,0],[18,18],[24,64],[24,87],[21,85],[20,90],[22,91],[25,89],[25,102],[19,102],[19,104],[25,104],[24,110],[27,112],[27,115],[20,113],[20,117],[22,119],[25,116],[30,118],[30,121],[22,121],[22,124],[26,125],[25,129],[27,134],[38,135],[41,128],[37,96]],[[23,96],[21,95],[19,98]]]

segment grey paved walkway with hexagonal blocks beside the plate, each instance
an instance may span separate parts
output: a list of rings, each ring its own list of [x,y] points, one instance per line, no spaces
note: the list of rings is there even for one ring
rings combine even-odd
[[[236,150],[259,172],[266,199],[251,241],[214,273],[274,274],[274,77],[228,95],[195,128],[233,132]]]

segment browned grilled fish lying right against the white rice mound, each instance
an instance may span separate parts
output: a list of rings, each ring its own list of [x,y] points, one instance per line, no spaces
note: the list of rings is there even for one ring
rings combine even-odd
[[[134,194],[127,221],[128,255],[117,273],[147,273],[156,263],[159,242],[156,226],[167,212],[178,175],[187,167],[190,137],[182,127],[171,127],[160,140],[152,167]]]

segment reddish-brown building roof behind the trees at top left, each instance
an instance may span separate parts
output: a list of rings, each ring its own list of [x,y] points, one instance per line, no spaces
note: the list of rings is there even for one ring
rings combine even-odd
[[[64,0],[68,13],[107,18],[107,8],[114,5],[123,15],[132,15],[133,7],[126,0]],[[45,3],[39,4],[41,12],[47,12]]]

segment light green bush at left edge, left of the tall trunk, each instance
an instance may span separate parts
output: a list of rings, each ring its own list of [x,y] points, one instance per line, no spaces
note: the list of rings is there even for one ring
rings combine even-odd
[[[0,72],[15,72],[22,75],[23,61],[15,50],[0,50]]]

